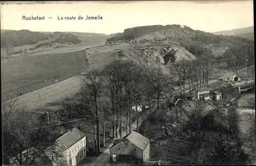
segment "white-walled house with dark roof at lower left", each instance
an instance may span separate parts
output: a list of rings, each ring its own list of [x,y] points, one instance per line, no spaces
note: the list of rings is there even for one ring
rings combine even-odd
[[[63,160],[68,165],[77,165],[86,157],[86,141],[86,135],[75,127],[60,136],[55,143],[62,151]],[[53,165],[57,165],[57,163],[53,163]]]

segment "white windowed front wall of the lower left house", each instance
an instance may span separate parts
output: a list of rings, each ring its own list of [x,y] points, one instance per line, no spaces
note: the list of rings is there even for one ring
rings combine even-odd
[[[77,165],[79,161],[86,157],[86,136],[66,149],[63,153],[69,165]]]

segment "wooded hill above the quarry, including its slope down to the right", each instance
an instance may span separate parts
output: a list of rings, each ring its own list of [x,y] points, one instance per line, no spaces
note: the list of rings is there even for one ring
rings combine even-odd
[[[193,30],[182,25],[150,25],[125,29],[109,37],[105,44],[112,43],[169,43],[181,44],[195,56],[215,58],[222,56],[226,49],[250,43],[246,38],[237,36],[215,35],[199,30]]]

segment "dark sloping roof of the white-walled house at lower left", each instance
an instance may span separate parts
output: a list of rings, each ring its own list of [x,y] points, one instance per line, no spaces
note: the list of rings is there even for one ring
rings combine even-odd
[[[61,147],[62,150],[66,150],[74,145],[76,142],[82,139],[82,137],[86,136],[82,133],[78,128],[73,128],[71,131],[65,133],[60,136],[56,142]]]

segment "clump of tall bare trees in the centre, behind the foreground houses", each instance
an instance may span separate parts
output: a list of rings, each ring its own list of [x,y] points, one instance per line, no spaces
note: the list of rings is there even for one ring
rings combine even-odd
[[[117,60],[103,70],[91,70],[85,75],[81,91],[73,99],[62,102],[61,120],[71,124],[73,118],[79,117],[90,122],[99,151],[100,132],[103,129],[105,134],[106,123],[111,122],[113,137],[122,136],[124,125],[126,133],[131,132],[132,118],[138,130],[138,106],[148,105],[151,112],[152,100],[156,98],[159,108],[168,78],[160,68],[141,67],[133,61]],[[134,105],[136,110],[132,110]]]

